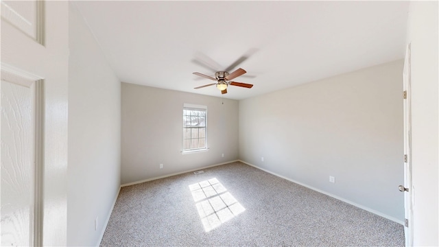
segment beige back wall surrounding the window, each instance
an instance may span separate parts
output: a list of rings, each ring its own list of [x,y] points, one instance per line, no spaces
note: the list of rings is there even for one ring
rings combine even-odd
[[[185,103],[207,106],[207,152],[180,152]],[[122,184],[238,158],[236,100],[122,83],[121,112]]]

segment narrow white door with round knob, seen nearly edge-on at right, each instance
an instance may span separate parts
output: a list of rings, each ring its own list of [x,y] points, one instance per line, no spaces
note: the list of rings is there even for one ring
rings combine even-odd
[[[404,193],[405,208],[405,246],[413,246],[413,198],[412,186],[412,111],[410,106],[410,44],[407,45],[403,71],[404,90],[404,183],[399,190]]]

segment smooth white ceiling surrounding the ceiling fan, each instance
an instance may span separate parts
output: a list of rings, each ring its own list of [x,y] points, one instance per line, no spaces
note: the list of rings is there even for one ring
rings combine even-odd
[[[122,82],[245,99],[403,58],[408,1],[77,1]],[[243,59],[246,58],[246,59]],[[209,64],[209,66],[206,66]],[[215,67],[215,70],[209,67]]]

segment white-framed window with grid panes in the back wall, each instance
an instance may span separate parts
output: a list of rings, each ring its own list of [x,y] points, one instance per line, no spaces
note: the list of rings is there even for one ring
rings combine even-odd
[[[207,107],[183,106],[183,152],[207,148]]]

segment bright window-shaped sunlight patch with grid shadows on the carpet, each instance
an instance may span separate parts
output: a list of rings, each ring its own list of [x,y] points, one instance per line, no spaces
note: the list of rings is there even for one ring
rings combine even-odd
[[[206,233],[246,211],[217,178],[189,185],[189,189]]]

